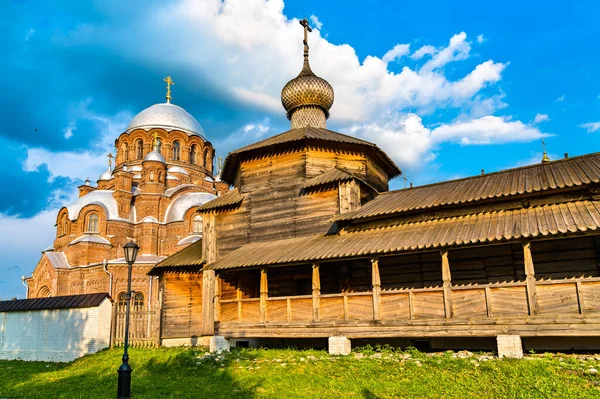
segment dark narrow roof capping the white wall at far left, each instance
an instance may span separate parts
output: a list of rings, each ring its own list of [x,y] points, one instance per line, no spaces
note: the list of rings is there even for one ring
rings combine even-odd
[[[48,298],[18,299],[0,301],[0,312],[24,312],[27,310],[92,308],[100,306],[110,298],[108,293],[53,296]]]

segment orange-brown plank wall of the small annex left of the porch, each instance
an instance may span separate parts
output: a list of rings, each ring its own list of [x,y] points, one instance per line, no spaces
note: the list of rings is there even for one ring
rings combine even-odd
[[[202,335],[202,274],[163,276],[162,338]]]

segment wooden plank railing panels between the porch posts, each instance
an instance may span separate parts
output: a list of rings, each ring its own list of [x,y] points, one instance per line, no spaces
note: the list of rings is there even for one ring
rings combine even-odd
[[[539,316],[600,313],[600,278],[536,281]],[[446,290],[446,295],[447,295]],[[451,318],[531,316],[527,284],[504,282],[451,287]],[[321,294],[318,322],[373,321],[373,294]],[[312,295],[268,297],[265,323],[314,322]],[[382,290],[380,320],[444,319],[444,287]],[[259,323],[260,298],[220,300],[219,321]]]

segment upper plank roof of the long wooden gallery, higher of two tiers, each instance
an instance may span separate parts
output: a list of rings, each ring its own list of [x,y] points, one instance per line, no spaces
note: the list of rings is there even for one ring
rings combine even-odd
[[[356,220],[600,182],[600,153],[388,191],[336,220]]]

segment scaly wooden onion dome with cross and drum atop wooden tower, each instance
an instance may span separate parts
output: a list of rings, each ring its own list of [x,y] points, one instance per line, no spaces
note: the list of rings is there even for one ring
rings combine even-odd
[[[281,103],[292,122],[292,129],[313,126],[326,127],[329,110],[333,105],[333,87],[313,73],[308,61],[308,34],[312,29],[306,19],[304,26],[304,65],[302,71],[281,90]]]

